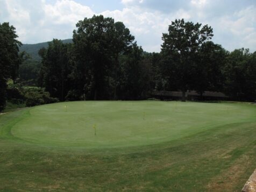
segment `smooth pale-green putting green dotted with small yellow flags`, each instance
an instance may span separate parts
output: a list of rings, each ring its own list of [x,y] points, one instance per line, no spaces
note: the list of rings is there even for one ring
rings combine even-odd
[[[11,133],[44,146],[140,146],[246,122],[255,117],[255,111],[255,107],[239,103],[63,102],[30,108],[29,115],[11,127]]]

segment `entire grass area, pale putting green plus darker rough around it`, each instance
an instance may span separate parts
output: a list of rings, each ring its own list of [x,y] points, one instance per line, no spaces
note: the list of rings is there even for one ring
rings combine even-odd
[[[247,103],[64,102],[0,116],[0,190],[240,191],[255,167]]]

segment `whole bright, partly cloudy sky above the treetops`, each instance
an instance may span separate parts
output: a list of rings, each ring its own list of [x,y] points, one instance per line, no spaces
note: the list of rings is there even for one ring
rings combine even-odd
[[[0,23],[15,26],[23,44],[70,39],[93,15],[123,22],[147,52],[160,52],[162,33],[182,18],[211,26],[212,41],[228,51],[256,51],[256,0],[0,0]]]

